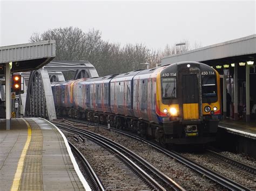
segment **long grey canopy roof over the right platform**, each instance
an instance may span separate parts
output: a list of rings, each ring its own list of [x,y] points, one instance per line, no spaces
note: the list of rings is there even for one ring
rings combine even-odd
[[[181,61],[198,61],[214,67],[217,65],[231,65],[231,63],[255,61],[255,58],[256,34],[253,34],[244,38],[165,56],[161,59],[161,65]]]

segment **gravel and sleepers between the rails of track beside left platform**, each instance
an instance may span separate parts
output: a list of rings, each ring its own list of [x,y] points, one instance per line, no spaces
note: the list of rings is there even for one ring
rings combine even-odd
[[[106,148],[85,139],[85,142],[76,142],[72,133],[63,131],[70,142],[75,145],[102,181],[106,190],[150,190],[152,187],[139,179],[124,162],[120,161]]]

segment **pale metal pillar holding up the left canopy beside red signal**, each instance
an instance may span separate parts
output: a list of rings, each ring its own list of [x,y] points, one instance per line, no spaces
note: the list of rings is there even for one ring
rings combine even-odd
[[[6,130],[11,129],[11,67],[5,63]]]

